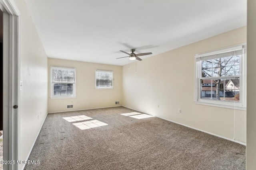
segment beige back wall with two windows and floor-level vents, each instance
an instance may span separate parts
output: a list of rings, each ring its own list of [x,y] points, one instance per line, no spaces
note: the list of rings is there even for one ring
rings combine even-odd
[[[50,99],[50,66],[76,68],[76,98]],[[113,89],[95,89],[95,70],[111,70],[114,76]],[[61,59],[48,59],[48,112],[91,109],[122,105],[122,66],[86,63]],[[116,105],[115,102],[120,102]],[[73,104],[73,109],[67,105]]]

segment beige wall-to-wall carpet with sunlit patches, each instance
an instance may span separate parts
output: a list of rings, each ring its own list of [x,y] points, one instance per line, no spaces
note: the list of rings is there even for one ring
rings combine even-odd
[[[243,145],[157,117],[121,115],[131,112],[112,107],[48,114],[29,157],[40,164],[25,169],[245,170]]]

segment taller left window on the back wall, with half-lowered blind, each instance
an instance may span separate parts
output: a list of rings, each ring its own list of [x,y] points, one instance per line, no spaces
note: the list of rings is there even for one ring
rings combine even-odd
[[[74,98],[76,68],[51,66],[51,98]]]

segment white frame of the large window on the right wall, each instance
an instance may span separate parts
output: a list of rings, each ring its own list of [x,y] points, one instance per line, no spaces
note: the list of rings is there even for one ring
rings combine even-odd
[[[228,51],[235,51],[238,49],[243,49],[242,57],[240,58],[240,100],[239,102],[229,102],[229,101],[219,101],[219,100],[207,100],[200,98],[200,78],[202,76],[202,65],[201,61],[197,61],[197,58],[225,53]],[[232,47],[218,49],[216,51],[210,51],[207,53],[196,54],[195,55],[195,87],[194,87],[194,102],[196,104],[202,104],[207,106],[225,107],[230,109],[246,110],[246,43],[235,45]]]

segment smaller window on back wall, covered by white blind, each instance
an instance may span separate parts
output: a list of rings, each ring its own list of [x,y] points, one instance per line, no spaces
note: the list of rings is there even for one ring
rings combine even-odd
[[[113,72],[96,70],[95,76],[96,89],[112,89],[113,88]]]

